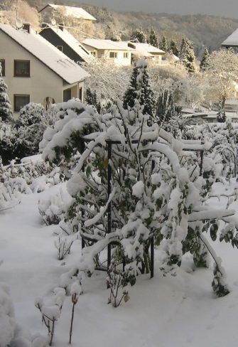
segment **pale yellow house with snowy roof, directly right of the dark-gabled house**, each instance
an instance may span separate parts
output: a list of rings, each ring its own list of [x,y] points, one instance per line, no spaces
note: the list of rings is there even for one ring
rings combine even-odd
[[[130,48],[126,42],[86,38],[82,43],[98,59],[107,60],[114,65],[131,65],[134,48]]]

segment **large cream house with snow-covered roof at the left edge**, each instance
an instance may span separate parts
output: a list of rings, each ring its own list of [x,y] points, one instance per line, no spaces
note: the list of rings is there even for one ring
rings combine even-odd
[[[28,32],[29,31],[29,32]],[[50,102],[83,98],[90,75],[60,50],[28,28],[16,30],[0,24],[0,62],[13,112],[28,102],[48,107]]]

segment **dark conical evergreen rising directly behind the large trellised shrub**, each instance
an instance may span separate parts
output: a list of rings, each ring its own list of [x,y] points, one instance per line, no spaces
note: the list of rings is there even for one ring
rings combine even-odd
[[[144,106],[143,114],[153,117],[156,100],[148,78],[147,62],[144,59],[138,60],[132,71],[130,85],[124,95],[124,108],[134,107],[135,100],[139,100],[141,106]]]

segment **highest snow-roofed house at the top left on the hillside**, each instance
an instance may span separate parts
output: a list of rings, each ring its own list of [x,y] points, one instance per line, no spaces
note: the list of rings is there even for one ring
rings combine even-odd
[[[48,4],[43,7],[43,9],[39,11],[39,13],[41,14],[43,22],[45,23],[51,23],[53,18],[57,21],[57,18],[60,14],[75,18],[79,22],[79,24],[92,23],[94,21],[97,21],[96,18],[91,16],[91,14],[89,14],[81,7]]]

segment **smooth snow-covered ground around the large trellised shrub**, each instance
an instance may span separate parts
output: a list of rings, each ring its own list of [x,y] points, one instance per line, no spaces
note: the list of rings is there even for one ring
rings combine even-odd
[[[81,252],[80,240],[72,252],[60,261],[54,246],[57,226],[46,226],[38,213],[38,200],[58,191],[59,186],[43,193],[21,196],[21,204],[0,212],[0,281],[11,289],[16,321],[29,333],[46,336],[36,297],[50,294],[60,274],[70,268]],[[226,204],[226,198],[223,198]],[[217,205],[217,200],[212,199]],[[233,203],[237,208],[238,203]],[[105,272],[85,279],[75,306],[72,346],[75,347],[221,347],[237,346],[238,250],[225,243],[212,242],[227,271],[231,292],[215,298],[210,269],[195,269],[185,255],[175,277],[158,269],[153,279],[139,276],[130,288],[130,300],[117,309],[107,304],[109,289]],[[67,297],[55,327],[53,346],[69,341],[71,298]]]

